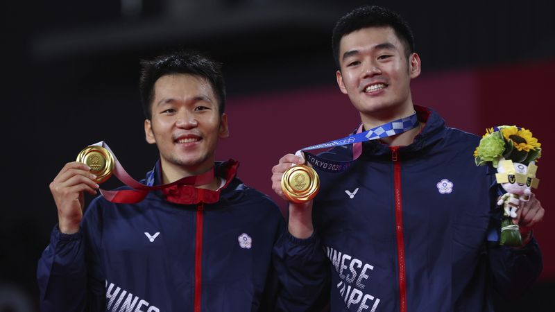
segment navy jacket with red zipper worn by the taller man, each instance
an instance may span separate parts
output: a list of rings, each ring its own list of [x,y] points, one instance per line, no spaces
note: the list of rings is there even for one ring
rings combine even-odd
[[[542,270],[536,241],[520,250],[495,241],[499,187],[475,166],[479,137],[415,108],[426,125],[413,144],[368,141],[347,171],[318,172],[313,218],[331,311],[493,311],[490,298],[520,294]],[[352,148],[322,156],[347,161]]]

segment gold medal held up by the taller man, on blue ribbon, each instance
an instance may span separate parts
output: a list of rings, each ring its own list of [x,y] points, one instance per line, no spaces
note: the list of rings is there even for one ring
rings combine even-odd
[[[307,202],[320,189],[320,177],[313,168],[305,165],[292,166],[283,173],[282,191],[291,202]]]

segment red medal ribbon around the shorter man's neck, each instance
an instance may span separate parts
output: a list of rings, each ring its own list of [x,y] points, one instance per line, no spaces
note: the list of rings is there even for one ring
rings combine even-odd
[[[137,180],[133,179],[133,177],[131,177],[127,171],[123,168],[123,166],[121,166],[121,164],[119,163],[119,161],[116,158],[116,155],[114,154],[114,152],[112,152],[112,150],[110,149],[110,147],[108,146],[108,144],[106,144],[104,141],[100,141],[96,144],[92,144],[90,145],[88,148],[94,148],[95,146],[100,146],[101,148],[105,148],[105,150],[108,150],[108,153],[110,153],[110,155],[106,155],[106,157],[113,157],[113,171],[112,173],[121,181],[123,182],[123,184],[126,184],[128,187],[131,187],[132,189],[123,189],[123,190],[118,190],[118,191],[107,191],[104,189],[99,189],[100,193],[102,194],[102,196],[104,196],[104,198],[110,202],[116,202],[116,203],[120,203],[120,204],[134,204],[136,202],[140,202],[141,200],[143,200],[146,195],[148,194],[149,191],[154,191],[157,189],[169,189],[170,187],[173,187],[174,185],[188,185],[188,186],[199,186],[199,185],[203,185],[203,184],[208,184],[210,182],[212,182],[212,180],[214,180],[214,168],[212,168],[211,170],[200,174],[200,175],[193,175],[190,177],[183,177],[180,180],[177,180],[175,182],[171,182],[169,184],[162,184],[162,185],[155,185],[155,186],[148,186],[146,184],[142,184],[140,182],[138,182]],[[87,150],[88,148],[85,148],[85,150]],[[85,151],[83,150],[83,151]],[[81,153],[80,153],[81,155]],[[78,156],[78,161],[79,162],[83,162],[81,159],[79,159]],[[86,162],[85,162],[86,164]],[[89,165],[89,164],[87,164]],[[90,165],[89,165],[90,166]],[[109,175],[108,175],[109,177]],[[103,180],[108,179],[108,177],[105,177]],[[102,182],[102,181],[100,181]],[[201,189],[199,189],[201,190]],[[201,196],[202,197],[202,196]],[[202,198],[200,198],[200,200],[202,200]],[[178,203],[189,203],[189,202],[178,202]],[[190,203],[194,203],[194,202],[190,202]]]

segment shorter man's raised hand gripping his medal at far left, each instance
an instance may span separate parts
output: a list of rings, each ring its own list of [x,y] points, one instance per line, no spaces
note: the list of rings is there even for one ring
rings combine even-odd
[[[74,234],[79,231],[85,206],[83,192],[96,195],[99,184],[94,182],[95,178],[96,175],[90,173],[86,164],[69,162],[50,183],[50,191],[58,207],[60,232]]]

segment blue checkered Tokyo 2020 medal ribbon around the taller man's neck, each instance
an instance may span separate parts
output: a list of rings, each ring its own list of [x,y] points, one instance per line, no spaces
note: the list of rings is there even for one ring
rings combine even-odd
[[[345,171],[347,168],[350,167],[350,165],[353,162],[355,162],[356,159],[353,159],[349,162],[335,162],[333,160],[323,159],[322,157],[318,157],[314,154],[308,153],[307,150],[333,148],[336,146],[343,146],[343,145],[355,144],[355,143],[364,142],[364,141],[371,141],[375,139],[382,139],[384,137],[400,135],[402,132],[406,132],[408,130],[416,128],[417,126],[418,126],[418,116],[416,116],[416,112],[415,112],[411,116],[397,119],[389,123],[384,123],[383,125],[378,125],[377,127],[372,128],[368,131],[360,132],[355,135],[350,135],[342,139],[336,139],[322,144],[316,144],[313,146],[302,148],[297,151],[297,154],[299,154],[302,151],[305,153],[305,158],[307,159],[307,162],[312,164],[312,166],[316,166],[323,171],[337,173],[337,172]]]

